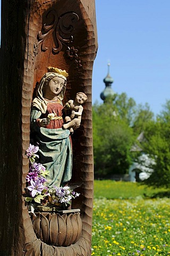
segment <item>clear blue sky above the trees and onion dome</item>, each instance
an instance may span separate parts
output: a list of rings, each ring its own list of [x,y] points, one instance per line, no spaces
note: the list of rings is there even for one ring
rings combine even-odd
[[[96,0],[98,53],[92,103],[104,90],[107,63],[112,89],[159,114],[170,99],[170,0]]]

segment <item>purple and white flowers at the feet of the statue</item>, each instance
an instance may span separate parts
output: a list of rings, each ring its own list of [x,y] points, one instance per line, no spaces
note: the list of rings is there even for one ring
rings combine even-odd
[[[39,158],[36,154],[38,150],[38,146],[30,144],[25,153],[30,162],[29,173],[26,177],[28,196],[25,198],[25,201],[29,203],[30,212],[33,212],[35,208],[37,210],[43,209],[42,206],[47,206],[50,211],[61,210],[61,205],[65,207],[70,205],[72,199],[80,194],[73,191],[69,186],[53,187],[51,189],[46,186],[49,172],[45,166],[35,162],[36,158]]]

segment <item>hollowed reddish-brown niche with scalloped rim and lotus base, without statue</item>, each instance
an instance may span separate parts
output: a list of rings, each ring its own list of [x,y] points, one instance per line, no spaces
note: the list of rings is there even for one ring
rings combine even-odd
[[[84,105],[81,126],[72,135],[71,182],[81,184],[78,188],[80,196],[72,202],[72,207],[80,209],[80,212],[38,213],[36,218],[30,218],[23,197],[22,217],[25,237],[23,255],[25,256],[91,255],[94,180],[91,77],[97,51],[94,9],[94,1],[90,0],[88,3],[85,0],[41,0],[30,5],[22,87],[23,189],[29,168],[28,159],[24,154],[30,141],[28,113],[36,84],[46,73],[47,67],[59,67],[69,73],[65,102],[72,99],[78,91],[87,94],[88,102]]]

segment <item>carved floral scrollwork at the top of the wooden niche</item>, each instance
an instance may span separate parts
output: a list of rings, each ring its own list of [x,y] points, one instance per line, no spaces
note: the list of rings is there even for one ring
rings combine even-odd
[[[36,56],[38,54],[39,44],[41,44],[42,51],[47,51],[48,47],[46,46],[46,40],[49,36],[53,36],[55,42],[55,47],[52,49],[53,54],[58,54],[64,45],[67,49],[65,51],[66,57],[71,61],[74,60],[75,68],[79,69],[82,67],[81,60],[78,57],[78,49],[75,49],[74,46],[69,47],[69,44],[73,42],[73,36],[71,35],[73,30],[72,23],[79,20],[78,14],[74,12],[66,12],[58,18],[57,12],[51,10],[47,13],[46,18],[50,25],[46,25],[45,23],[41,31],[39,31],[39,42],[34,45],[34,55]]]

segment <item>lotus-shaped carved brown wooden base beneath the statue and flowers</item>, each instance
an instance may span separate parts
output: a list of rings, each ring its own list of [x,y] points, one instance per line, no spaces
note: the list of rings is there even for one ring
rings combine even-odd
[[[70,246],[76,243],[82,231],[80,212],[66,213],[36,213],[32,217],[33,229],[37,238],[49,245]]]

